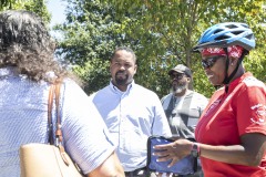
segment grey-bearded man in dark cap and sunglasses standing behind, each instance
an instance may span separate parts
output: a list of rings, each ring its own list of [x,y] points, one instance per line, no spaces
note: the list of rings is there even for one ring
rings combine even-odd
[[[172,92],[165,95],[161,102],[167,116],[173,136],[194,138],[194,131],[198,118],[208,103],[208,100],[188,88],[192,82],[192,71],[183,64],[176,65],[168,71],[172,83]],[[202,176],[201,166],[198,171],[190,177]],[[180,176],[178,176],[180,177]]]

